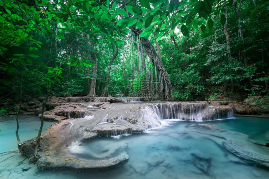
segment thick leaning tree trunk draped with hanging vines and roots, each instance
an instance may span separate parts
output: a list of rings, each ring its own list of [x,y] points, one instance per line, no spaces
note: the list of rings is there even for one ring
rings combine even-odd
[[[134,26],[131,28],[135,35],[139,37],[141,34],[140,29],[136,29]],[[143,47],[145,48],[147,56],[149,56],[151,62],[154,64],[154,66],[158,69],[158,71],[161,73],[162,79],[163,79],[163,85],[165,90],[165,100],[171,99],[171,91],[172,91],[172,84],[170,81],[170,78],[168,76],[168,73],[164,67],[163,62],[158,57],[154,47],[150,44],[150,41],[145,38],[141,37],[139,38]]]

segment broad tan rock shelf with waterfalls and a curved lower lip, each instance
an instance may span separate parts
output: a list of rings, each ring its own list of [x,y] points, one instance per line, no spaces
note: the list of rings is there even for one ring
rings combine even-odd
[[[74,145],[74,142],[98,136],[142,132],[160,126],[162,119],[212,120],[229,115],[233,115],[231,107],[209,107],[207,102],[62,103],[44,115],[44,118],[59,122],[42,134],[44,140],[40,143],[38,167],[108,169],[128,162],[126,152],[105,160],[86,160],[76,157],[67,147]],[[69,119],[62,120],[63,118]],[[31,157],[34,147],[35,138],[19,146],[19,149],[23,155]]]

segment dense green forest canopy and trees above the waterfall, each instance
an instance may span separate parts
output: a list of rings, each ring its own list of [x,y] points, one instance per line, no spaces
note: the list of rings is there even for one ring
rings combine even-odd
[[[3,0],[0,92],[268,97],[268,12],[266,0]]]

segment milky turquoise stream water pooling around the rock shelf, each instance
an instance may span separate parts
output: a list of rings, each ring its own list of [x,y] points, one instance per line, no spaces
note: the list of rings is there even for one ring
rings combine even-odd
[[[24,126],[24,122],[28,125]],[[36,127],[33,124],[35,122],[37,122]],[[7,123],[8,125],[6,125]],[[215,135],[214,131],[205,134],[191,127],[192,124],[212,124],[223,129],[247,134],[253,141],[268,143],[269,121],[265,118],[236,117],[203,122],[168,119],[163,120],[159,127],[149,129],[146,132],[126,136],[98,137],[82,143],[74,143],[72,147],[68,147],[68,150],[77,156],[78,160],[79,158],[105,160],[108,157],[118,155],[121,151],[126,151],[130,157],[129,162],[122,166],[96,172],[38,171],[34,163],[29,163],[28,159],[18,153],[18,150],[13,149],[16,148],[16,136],[14,134],[16,124],[15,120],[8,120],[7,123],[5,125],[0,123],[0,129],[2,130],[2,133],[0,133],[1,179],[253,179],[268,178],[269,176],[268,168],[247,163],[227,152],[220,145],[223,139],[213,136]],[[44,128],[53,123],[46,122]],[[39,124],[40,121],[37,117],[24,117],[19,132],[24,133],[23,130],[27,134],[22,134],[26,138],[21,137],[21,140],[35,137],[34,133],[37,133],[35,129],[39,128]],[[238,133],[235,132],[236,134]],[[15,147],[10,144],[11,142],[15,144]],[[3,152],[3,150],[9,151]],[[261,148],[261,150],[268,152],[266,157],[269,157],[267,147]],[[203,156],[205,160],[198,160],[197,156]],[[207,160],[206,158],[211,159]],[[206,167],[206,169],[203,167]]]

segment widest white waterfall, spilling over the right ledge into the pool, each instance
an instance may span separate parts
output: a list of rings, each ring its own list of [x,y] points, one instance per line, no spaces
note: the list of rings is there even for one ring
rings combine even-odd
[[[231,107],[210,107],[207,102],[163,102],[142,109],[140,125],[147,128],[158,126],[162,119],[190,121],[216,120],[234,117]],[[152,123],[153,122],[153,123]]]

